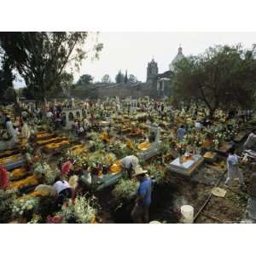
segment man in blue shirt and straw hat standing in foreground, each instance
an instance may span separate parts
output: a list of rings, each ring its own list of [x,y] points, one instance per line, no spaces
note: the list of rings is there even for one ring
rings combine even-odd
[[[146,176],[148,171],[137,166],[133,177],[137,177],[139,187],[137,189],[137,199],[131,212],[131,218],[135,223],[148,223],[149,206],[151,204],[152,180]]]

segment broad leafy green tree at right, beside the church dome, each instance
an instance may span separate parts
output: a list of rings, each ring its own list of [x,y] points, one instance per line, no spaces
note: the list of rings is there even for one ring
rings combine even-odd
[[[210,47],[203,55],[177,62],[172,77],[175,96],[205,102],[210,116],[217,108],[250,108],[256,85],[256,61],[241,45]]]

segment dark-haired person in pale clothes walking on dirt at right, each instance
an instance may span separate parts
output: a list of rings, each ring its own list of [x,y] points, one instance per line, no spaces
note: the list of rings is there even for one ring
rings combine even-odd
[[[230,185],[232,182],[232,179],[234,175],[236,175],[239,178],[239,182],[243,188],[246,187],[243,179],[243,175],[238,167],[238,159],[239,157],[236,155],[236,148],[232,147],[229,150],[229,156],[227,159],[227,166],[228,166],[228,177],[225,181],[225,186]]]

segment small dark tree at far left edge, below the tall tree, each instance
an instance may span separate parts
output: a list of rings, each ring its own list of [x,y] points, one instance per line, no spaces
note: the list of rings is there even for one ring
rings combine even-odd
[[[13,80],[15,79],[15,75],[12,73],[13,66],[7,56],[2,56],[2,63],[0,65],[2,66],[0,69],[0,100],[3,100],[4,92],[9,87],[13,87]]]

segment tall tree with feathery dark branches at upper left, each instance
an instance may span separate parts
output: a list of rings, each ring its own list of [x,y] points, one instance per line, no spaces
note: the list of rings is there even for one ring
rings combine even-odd
[[[61,89],[62,73],[67,67],[79,69],[87,51],[88,32],[0,32],[0,46],[25,79],[33,98],[43,100]],[[94,53],[102,44],[96,44]],[[65,79],[65,78],[64,78]]]

